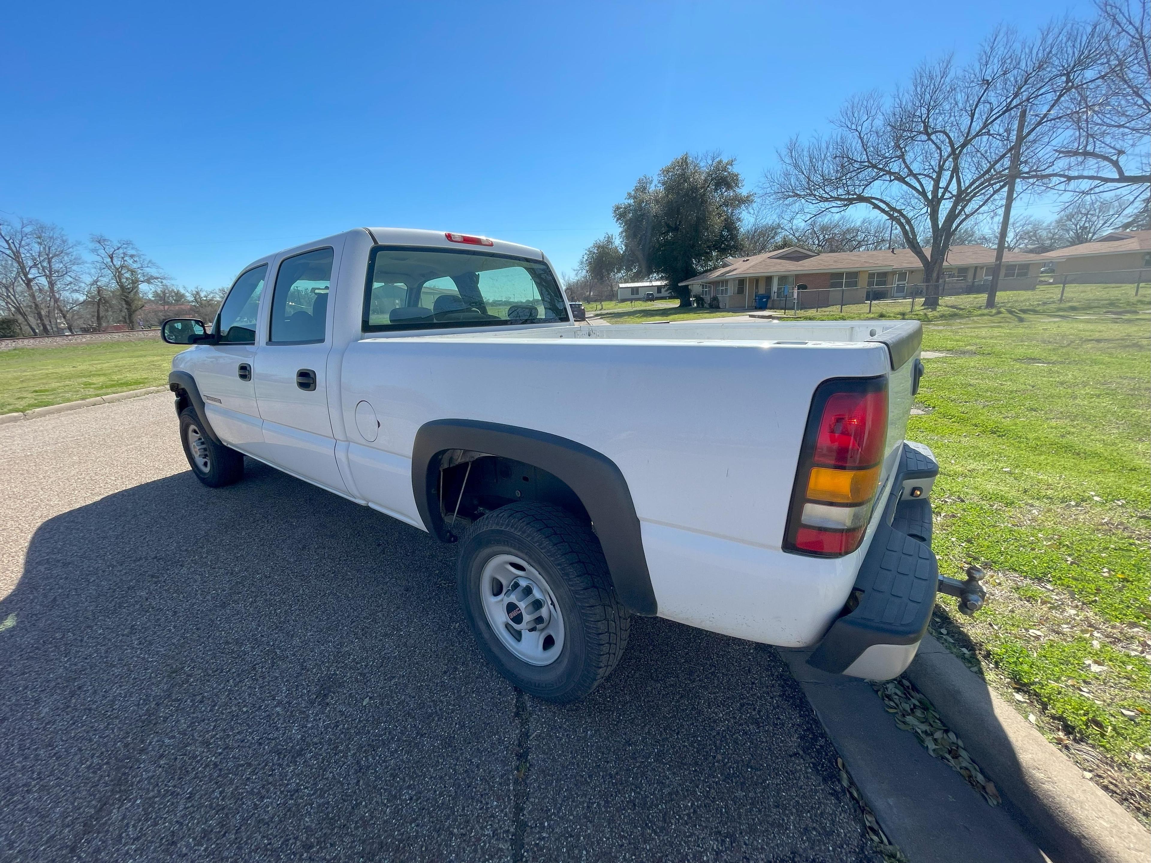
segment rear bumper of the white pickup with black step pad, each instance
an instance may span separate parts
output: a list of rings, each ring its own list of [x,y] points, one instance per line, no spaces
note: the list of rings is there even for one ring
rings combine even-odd
[[[898,677],[927,632],[939,582],[930,499],[939,466],[927,446],[905,443],[897,469],[851,598],[808,658],[822,671],[871,680]]]

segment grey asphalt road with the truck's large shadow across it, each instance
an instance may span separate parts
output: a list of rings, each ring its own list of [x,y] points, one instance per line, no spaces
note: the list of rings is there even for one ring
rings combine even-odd
[[[526,697],[450,548],[204,488],[166,394],[0,426],[0,621],[2,861],[876,860],[773,650],[643,618]]]

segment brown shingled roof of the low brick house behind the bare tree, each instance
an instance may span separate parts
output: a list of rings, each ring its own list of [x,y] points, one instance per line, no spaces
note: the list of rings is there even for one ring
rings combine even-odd
[[[886,249],[877,252],[825,252],[802,260],[780,260],[777,255],[790,250],[756,254],[750,258],[733,258],[723,267],[709,273],[702,273],[680,284],[699,284],[716,278],[732,276],[773,276],[790,273],[849,273],[852,270],[885,272],[892,269],[922,268],[920,259],[907,249],[893,252]],[[1008,264],[1026,264],[1028,261],[1046,262],[1042,254],[1029,252],[1005,252],[1004,260]],[[978,267],[996,261],[996,250],[981,245],[952,246],[947,252],[946,264],[950,267]]]

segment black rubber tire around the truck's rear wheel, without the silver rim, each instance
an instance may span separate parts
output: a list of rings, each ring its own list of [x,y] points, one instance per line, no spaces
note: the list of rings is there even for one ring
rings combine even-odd
[[[532,665],[504,646],[481,599],[485,566],[514,555],[547,581],[563,616],[558,658]],[[592,528],[551,504],[517,503],[479,519],[459,543],[459,601],[488,660],[538,698],[579,701],[607,680],[627,644],[628,614],[619,604]],[[495,595],[495,594],[494,594]]]

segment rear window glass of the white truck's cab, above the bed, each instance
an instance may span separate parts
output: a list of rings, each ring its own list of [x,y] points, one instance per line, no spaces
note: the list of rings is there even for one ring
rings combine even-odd
[[[364,331],[506,327],[567,320],[543,261],[471,250],[372,250]]]

